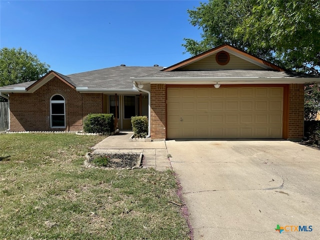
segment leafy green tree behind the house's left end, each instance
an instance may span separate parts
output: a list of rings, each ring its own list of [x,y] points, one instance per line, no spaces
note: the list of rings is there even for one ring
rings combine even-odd
[[[49,67],[21,47],[3,47],[0,49],[0,86],[37,80],[48,72]]]

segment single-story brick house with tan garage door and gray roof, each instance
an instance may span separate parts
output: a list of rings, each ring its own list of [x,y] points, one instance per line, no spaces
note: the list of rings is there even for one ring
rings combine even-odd
[[[149,115],[152,139],[302,138],[303,85],[319,77],[286,72],[223,44],[163,68],[116,66],[0,87],[10,131],[81,130],[88,113],[113,113],[120,129]],[[148,103],[149,101],[149,103]]]

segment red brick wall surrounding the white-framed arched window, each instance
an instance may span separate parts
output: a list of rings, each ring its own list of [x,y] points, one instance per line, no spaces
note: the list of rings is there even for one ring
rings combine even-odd
[[[60,94],[65,99],[65,128],[50,128],[50,98]],[[9,94],[10,131],[82,130],[88,113],[102,112],[102,93],[79,93],[57,77],[33,93]]]

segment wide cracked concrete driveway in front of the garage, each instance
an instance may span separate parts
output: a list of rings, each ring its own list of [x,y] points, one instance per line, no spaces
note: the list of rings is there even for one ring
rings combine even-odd
[[[285,140],[166,146],[194,239],[320,239],[320,150]]]

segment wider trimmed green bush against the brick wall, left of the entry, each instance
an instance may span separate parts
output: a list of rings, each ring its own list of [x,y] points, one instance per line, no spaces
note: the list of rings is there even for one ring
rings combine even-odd
[[[113,114],[88,114],[83,121],[83,130],[90,133],[110,134],[112,131],[114,131]]]

